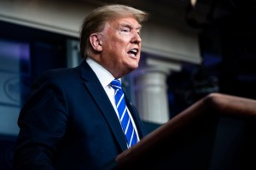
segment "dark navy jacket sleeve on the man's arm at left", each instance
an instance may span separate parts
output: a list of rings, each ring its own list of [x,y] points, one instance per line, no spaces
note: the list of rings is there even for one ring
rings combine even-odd
[[[15,169],[54,169],[55,152],[67,129],[67,99],[54,74],[46,74],[34,84],[18,125]]]

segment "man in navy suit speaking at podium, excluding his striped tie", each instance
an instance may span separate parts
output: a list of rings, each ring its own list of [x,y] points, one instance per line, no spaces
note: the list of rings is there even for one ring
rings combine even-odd
[[[93,10],[84,20],[76,68],[46,71],[20,111],[15,169],[102,169],[129,149],[115,105],[113,80],[138,67],[141,22],[148,14],[124,5]],[[125,98],[136,142],[146,133]]]

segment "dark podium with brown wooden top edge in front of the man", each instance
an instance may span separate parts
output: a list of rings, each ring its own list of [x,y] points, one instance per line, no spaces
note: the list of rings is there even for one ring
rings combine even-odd
[[[115,169],[256,169],[255,117],[254,99],[208,94],[116,156]]]

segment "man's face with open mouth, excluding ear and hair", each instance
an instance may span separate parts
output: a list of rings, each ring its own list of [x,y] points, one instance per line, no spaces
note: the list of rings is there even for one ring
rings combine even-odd
[[[141,25],[132,17],[108,22],[102,31],[101,64],[114,77],[122,77],[138,67],[141,54]]]

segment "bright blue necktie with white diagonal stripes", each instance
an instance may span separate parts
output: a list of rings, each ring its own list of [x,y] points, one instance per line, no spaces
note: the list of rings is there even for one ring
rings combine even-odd
[[[114,89],[115,93],[115,104],[117,105],[117,110],[119,112],[119,120],[123,127],[123,131],[125,133],[127,144],[129,148],[137,143],[137,134],[132,125],[131,118],[128,114],[128,108],[125,104],[125,95],[121,88],[121,83],[119,80],[113,80],[110,83],[111,87]]]

